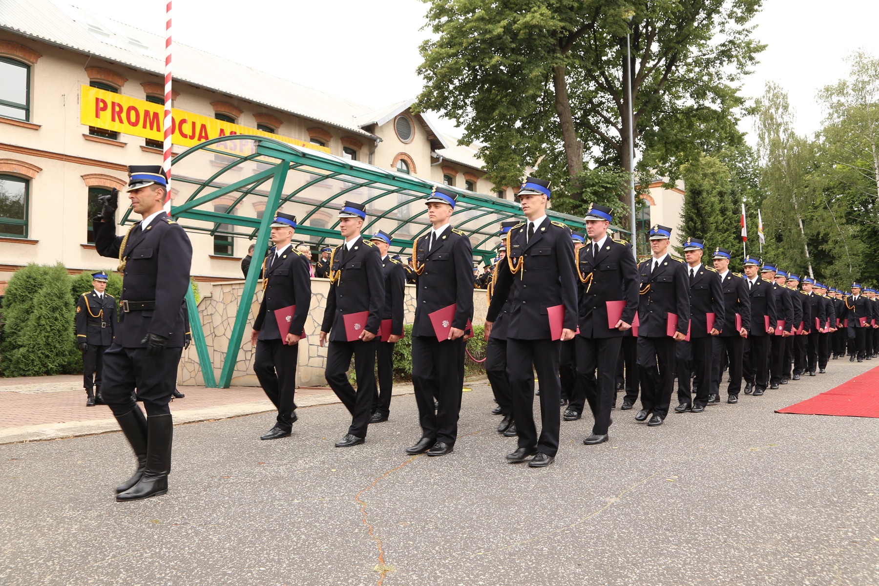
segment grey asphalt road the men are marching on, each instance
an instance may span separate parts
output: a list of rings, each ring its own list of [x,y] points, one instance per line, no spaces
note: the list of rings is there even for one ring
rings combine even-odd
[[[464,394],[455,451],[408,458],[411,395],[366,445],[341,406],[175,429],[167,496],[115,503],[120,433],[0,446],[0,584],[879,584],[879,419],[775,414],[875,363],[611,441],[563,423],[546,469],[509,465],[490,391]]]

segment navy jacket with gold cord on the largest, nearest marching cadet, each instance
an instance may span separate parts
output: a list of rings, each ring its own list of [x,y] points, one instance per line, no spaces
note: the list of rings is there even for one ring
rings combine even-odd
[[[526,242],[526,222],[511,228],[507,254],[514,264],[523,262],[516,274],[505,259],[498,263],[494,296],[487,322],[494,322],[505,301],[510,301],[507,338],[513,340],[549,340],[547,307],[564,306],[563,328],[577,329],[578,303],[574,245],[570,228],[562,223],[541,222],[530,242]],[[605,320],[607,325],[607,318]]]

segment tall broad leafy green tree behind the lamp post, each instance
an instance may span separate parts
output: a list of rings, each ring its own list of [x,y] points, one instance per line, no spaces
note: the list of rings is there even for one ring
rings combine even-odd
[[[763,49],[749,25],[761,0],[425,2],[436,37],[421,47],[418,105],[463,126],[462,142],[485,145],[495,184],[518,184],[556,152],[569,177],[585,153],[631,171],[627,59],[647,166],[673,177],[676,157],[740,141],[736,83]]]

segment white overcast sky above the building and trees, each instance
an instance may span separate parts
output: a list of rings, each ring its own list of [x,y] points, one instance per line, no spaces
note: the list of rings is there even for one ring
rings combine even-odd
[[[164,33],[164,0],[68,4]],[[415,69],[421,62],[418,46],[428,35],[421,30],[425,11],[419,0],[177,0],[174,40],[379,108],[414,98],[421,88]],[[879,55],[876,0],[765,0],[755,22],[757,38],[768,47],[745,78],[744,94],[755,98],[766,81],[780,83],[801,134],[820,127],[816,92],[846,75],[846,54],[864,48]],[[750,121],[742,129],[750,132]]]

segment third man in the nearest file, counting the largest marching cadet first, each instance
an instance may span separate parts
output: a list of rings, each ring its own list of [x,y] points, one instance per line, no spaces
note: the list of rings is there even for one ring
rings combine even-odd
[[[641,410],[635,420],[646,421],[650,417],[647,424],[657,426],[665,421],[672,401],[675,343],[685,339],[689,331],[690,298],[685,264],[668,253],[672,228],[657,224],[650,228],[649,237],[653,254],[638,266]]]

